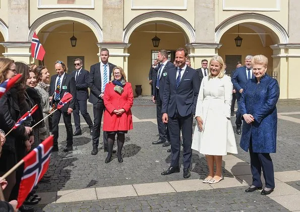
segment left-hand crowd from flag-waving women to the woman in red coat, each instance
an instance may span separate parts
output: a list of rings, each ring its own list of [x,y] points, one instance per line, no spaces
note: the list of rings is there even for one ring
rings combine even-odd
[[[81,135],[80,116],[82,114],[90,128],[93,140],[92,154],[97,154],[100,137],[102,114],[104,112],[103,138],[104,151],[108,152],[105,163],[109,163],[113,150],[115,135],[117,135],[117,160],[123,162],[122,148],[125,134],[133,129],[131,107],[133,105],[133,90],[127,82],[126,74],[121,67],[108,63],[109,51],[101,49],[101,62],[93,65],[90,72],[84,70],[82,60],[75,59],[75,71],[68,74],[68,68],[63,61],[56,61],[56,74],[49,80],[49,72],[45,66],[27,65],[11,59],[0,58],[0,83],[22,74],[17,83],[0,99],[0,176],[8,172],[22,158],[49,134],[53,135],[52,152],[58,151],[58,124],[63,116],[67,130],[67,145],[64,151],[73,150],[73,136]],[[88,87],[91,92],[88,93]],[[57,104],[64,94],[69,92],[73,98],[61,109]],[[94,123],[87,112],[87,99],[93,104]],[[32,116],[8,133],[21,116],[38,106]],[[48,116],[52,113],[52,116]],[[71,123],[74,114],[75,132]],[[42,120],[42,121],[41,121]],[[41,122],[40,122],[41,121]],[[37,125],[36,125],[37,124]],[[0,202],[1,209],[16,210],[23,167],[19,167],[6,179],[0,182],[4,190],[4,198],[8,202]],[[42,182],[49,182],[49,176],[44,175]],[[40,181],[40,182],[41,182]],[[37,204],[41,198],[35,194],[38,186],[30,192],[20,211],[34,211],[30,205]],[[17,211],[17,210],[16,210]]]

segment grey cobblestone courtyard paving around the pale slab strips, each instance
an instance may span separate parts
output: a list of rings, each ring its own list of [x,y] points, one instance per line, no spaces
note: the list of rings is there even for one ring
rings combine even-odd
[[[93,114],[92,109],[92,105],[88,105],[91,117]],[[300,112],[300,100],[280,100],[277,109],[278,113]],[[156,119],[155,104],[147,98],[135,98],[132,112],[139,120]],[[292,116],[296,119],[299,118]],[[235,130],[234,121],[235,118],[232,117],[231,122]],[[81,122],[84,122],[82,117]],[[63,123],[62,120],[61,123]],[[97,155],[91,155],[92,143],[88,126],[82,125],[81,127],[83,135],[74,137],[74,150],[66,153],[62,151],[66,145],[65,126],[59,126],[58,143],[60,149],[58,152],[52,153],[47,172],[47,175],[51,176],[51,183],[39,184],[38,192],[184,180],[183,172],[168,176],[160,174],[169,167],[170,154],[166,152],[169,147],[152,144],[152,141],[158,139],[157,125],[152,121],[134,122],[134,130],[129,131],[126,135],[126,143],[123,148],[124,163],[118,163],[116,155],[113,155],[113,160],[109,164],[105,164],[106,153],[103,152],[103,149],[99,149]],[[277,129],[277,152],[271,154],[275,172],[300,170],[299,124],[278,119]],[[102,132],[100,138],[102,138]],[[240,135],[235,134],[235,138],[238,145]],[[100,139],[99,147],[101,144],[102,139]],[[238,154],[235,156],[244,161],[235,166],[250,163],[249,153],[239,148],[239,146]],[[180,162],[182,163],[182,157]],[[205,157],[194,151],[192,176],[189,179],[203,179],[207,173],[208,168]],[[233,178],[234,175],[234,167],[230,170],[223,168],[224,177]],[[299,181],[289,183],[289,185],[298,189]],[[131,211],[134,209],[137,211],[162,211],[170,207],[174,209],[170,209],[170,211],[195,211],[202,208],[204,208],[202,210],[210,209],[211,211],[285,210],[274,200],[269,197],[262,197],[259,193],[246,195],[244,189],[245,187],[238,189],[235,187],[108,200],[52,203],[41,205],[39,208],[43,208],[45,211],[71,211],[71,209],[72,211]],[[215,198],[213,198],[214,196]],[[236,199],[236,202],[234,199]],[[180,203],[182,204],[176,206]],[[157,208],[155,205],[157,205]]]

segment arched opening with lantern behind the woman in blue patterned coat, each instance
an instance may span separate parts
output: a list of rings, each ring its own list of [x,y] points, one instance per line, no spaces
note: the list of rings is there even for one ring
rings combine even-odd
[[[237,47],[234,41],[238,35],[243,38],[240,47]],[[269,60],[268,74],[279,80],[279,70],[276,69],[276,64],[273,67],[273,50],[270,46],[279,43],[280,40],[270,28],[258,23],[244,22],[228,29],[219,42],[222,46],[218,54],[225,60],[228,74],[235,70],[237,61],[244,64],[247,55],[264,55]]]

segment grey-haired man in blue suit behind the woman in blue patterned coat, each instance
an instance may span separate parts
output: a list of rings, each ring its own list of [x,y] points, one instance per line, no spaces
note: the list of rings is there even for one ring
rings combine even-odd
[[[252,74],[252,56],[247,56],[245,59],[245,66],[239,67],[234,71],[231,82],[236,90],[236,101],[237,101],[237,111],[236,111],[236,133],[241,134],[241,126],[242,126],[242,115],[241,109],[239,108],[239,99],[241,99],[241,95],[243,89],[246,85],[248,79],[254,78]]]

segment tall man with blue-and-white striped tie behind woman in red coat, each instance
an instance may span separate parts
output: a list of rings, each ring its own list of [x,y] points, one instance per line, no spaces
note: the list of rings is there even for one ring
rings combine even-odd
[[[89,87],[91,89],[89,102],[93,104],[94,126],[92,133],[93,150],[91,154],[98,153],[100,127],[102,114],[105,109],[103,96],[105,85],[110,81],[112,69],[115,65],[108,63],[109,51],[107,48],[100,50],[101,62],[91,66],[89,75]],[[103,132],[104,151],[107,151],[107,134]]]

